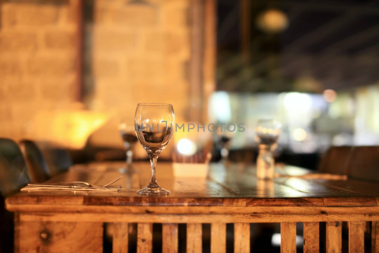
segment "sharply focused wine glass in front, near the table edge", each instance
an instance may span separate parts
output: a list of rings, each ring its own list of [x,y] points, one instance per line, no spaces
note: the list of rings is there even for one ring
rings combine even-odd
[[[138,104],[135,115],[135,130],[139,143],[150,157],[150,182],[145,188],[138,190],[139,194],[170,194],[169,190],[157,184],[155,168],[160,153],[168,145],[174,122],[174,108],[171,104],[142,103]]]

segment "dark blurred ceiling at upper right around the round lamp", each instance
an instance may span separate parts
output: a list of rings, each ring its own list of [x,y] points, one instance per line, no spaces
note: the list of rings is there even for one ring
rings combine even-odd
[[[240,1],[218,1],[218,90],[349,90],[379,80],[379,1],[251,1],[248,61],[241,50]],[[278,34],[256,27],[267,9],[289,26]]]

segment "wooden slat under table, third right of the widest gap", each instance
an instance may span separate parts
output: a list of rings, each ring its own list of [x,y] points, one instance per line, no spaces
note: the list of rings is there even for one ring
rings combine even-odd
[[[342,252],[342,222],[326,223],[326,252]]]

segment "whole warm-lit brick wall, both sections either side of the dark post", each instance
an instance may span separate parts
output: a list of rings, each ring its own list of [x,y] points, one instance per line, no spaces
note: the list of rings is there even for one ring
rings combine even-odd
[[[36,114],[71,110],[75,102],[73,2],[0,0],[1,136],[38,139],[62,133],[46,130],[51,119]],[[110,116],[91,137],[93,143],[121,146],[118,118],[133,123],[139,102],[171,103],[176,121],[188,121],[188,108],[194,108],[189,106],[190,2],[85,2],[83,107]]]

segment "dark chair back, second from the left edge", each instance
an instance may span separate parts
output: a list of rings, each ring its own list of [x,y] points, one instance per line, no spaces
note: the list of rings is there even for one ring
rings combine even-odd
[[[42,183],[49,179],[49,168],[36,143],[30,140],[22,140],[19,144],[28,167],[31,182]]]

